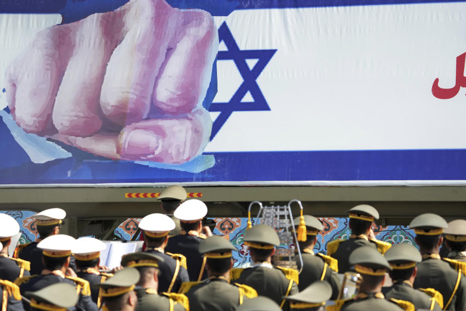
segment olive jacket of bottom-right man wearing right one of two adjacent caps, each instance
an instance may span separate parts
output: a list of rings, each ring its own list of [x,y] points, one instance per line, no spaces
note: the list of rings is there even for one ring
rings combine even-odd
[[[385,298],[395,298],[411,302],[417,309],[442,310],[435,299],[428,294],[414,289],[409,283],[398,282],[390,287],[383,287]]]

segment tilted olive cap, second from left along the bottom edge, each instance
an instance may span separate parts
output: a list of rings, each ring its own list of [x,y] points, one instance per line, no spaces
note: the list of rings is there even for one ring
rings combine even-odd
[[[126,267],[105,282],[94,284],[94,287],[102,289],[102,297],[115,297],[132,291],[134,285],[139,282],[139,277],[139,271],[136,268]]]

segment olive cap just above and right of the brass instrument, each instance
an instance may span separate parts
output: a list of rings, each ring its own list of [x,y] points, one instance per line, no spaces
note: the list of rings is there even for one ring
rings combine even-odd
[[[386,269],[392,270],[387,259],[376,248],[370,246],[356,248],[351,253],[349,262],[350,265],[354,265],[356,272],[372,276],[383,276]]]

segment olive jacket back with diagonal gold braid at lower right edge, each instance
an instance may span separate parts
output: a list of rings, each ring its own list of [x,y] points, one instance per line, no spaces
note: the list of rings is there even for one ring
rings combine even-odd
[[[417,264],[413,285],[439,291],[443,296],[443,310],[466,310],[466,278],[442,259],[422,259]]]

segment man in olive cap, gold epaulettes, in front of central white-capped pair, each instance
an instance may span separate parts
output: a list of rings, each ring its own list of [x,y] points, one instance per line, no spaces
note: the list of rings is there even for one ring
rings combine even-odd
[[[199,252],[206,258],[209,278],[183,283],[180,292],[188,297],[190,311],[234,311],[246,298],[257,296],[249,286],[230,284],[232,251],[237,251],[236,247],[220,236],[200,242]]]

